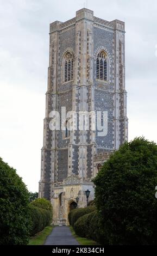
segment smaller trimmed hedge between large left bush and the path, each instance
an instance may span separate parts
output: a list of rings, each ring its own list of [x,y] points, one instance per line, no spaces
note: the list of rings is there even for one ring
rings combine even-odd
[[[29,204],[29,212],[32,222],[30,235],[40,232],[52,222],[52,205],[45,198],[37,198]]]

